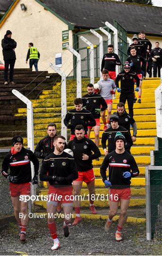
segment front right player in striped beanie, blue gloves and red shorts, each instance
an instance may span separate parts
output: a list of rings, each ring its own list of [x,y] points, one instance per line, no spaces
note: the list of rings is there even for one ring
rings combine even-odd
[[[127,209],[130,201],[131,178],[139,174],[138,167],[133,155],[125,151],[125,137],[120,132],[116,133],[114,138],[115,150],[106,155],[100,173],[102,181],[109,190],[109,216],[105,224],[105,231],[111,229],[112,219],[117,214],[120,202],[120,216],[117,231],[115,233],[116,241],[121,241],[121,230],[127,220]],[[107,179],[106,170],[109,168],[109,178]]]

